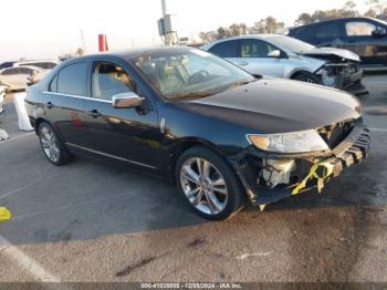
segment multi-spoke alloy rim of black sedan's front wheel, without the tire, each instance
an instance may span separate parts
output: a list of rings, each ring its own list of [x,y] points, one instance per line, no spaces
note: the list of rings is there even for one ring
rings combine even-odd
[[[206,159],[187,159],[180,168],[180,185],[191,205],[203,214],[217,215],[227,206],[226,180]]]

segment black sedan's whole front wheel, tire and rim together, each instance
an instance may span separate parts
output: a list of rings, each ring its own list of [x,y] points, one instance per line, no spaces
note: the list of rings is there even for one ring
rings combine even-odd
[[[176,184],[194,210],[203,218],[221,220],[243,206],[243,187],[232,167],[202,146],[179,157]]]

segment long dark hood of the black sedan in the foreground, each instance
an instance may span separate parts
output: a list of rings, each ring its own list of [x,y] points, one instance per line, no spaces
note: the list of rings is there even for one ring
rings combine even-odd
[[[351,94],[284,79],[261,79],[179,105],[265,134],[316,128],[360,117],[360,104]]]

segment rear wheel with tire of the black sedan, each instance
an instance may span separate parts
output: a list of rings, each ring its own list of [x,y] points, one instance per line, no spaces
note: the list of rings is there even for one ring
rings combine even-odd
[[[38,136],[44,156],[54,165],[64,165],[73,159],[55,130],[46,122],[39,124]]]

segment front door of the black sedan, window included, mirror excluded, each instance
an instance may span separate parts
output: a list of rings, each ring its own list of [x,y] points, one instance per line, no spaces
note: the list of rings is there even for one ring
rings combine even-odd
[[[109,59],[92,64],[92,97],[85,101],[87,112],[87,148],[138,169],[155,170],[161,151],[161,132],[153,101],[130,75],[127,66]],[[125,68],[125,69],[124,69]],[[144,97],[139,107],[116,108],[112,97],[136,93]]]

